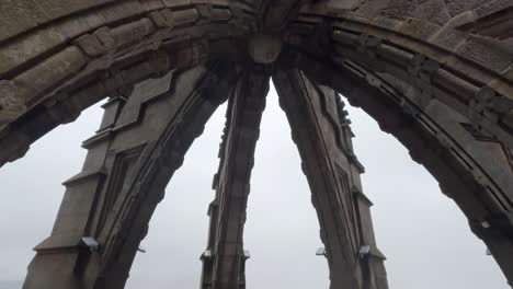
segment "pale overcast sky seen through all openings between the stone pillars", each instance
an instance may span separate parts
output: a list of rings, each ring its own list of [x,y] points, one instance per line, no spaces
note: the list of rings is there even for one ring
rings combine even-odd
[[[198,288],[207,241],[212,177],[225,123],[219,109],[189,151],[150,223],[128,289]],[[80,171],[82,140],[98,129],[96,105],[73,124],[33,144],[0,169],[0,280],[21,280],[32,247],[48,236],[64,195],[62,181]],[[387,255],[391,289],[508,289],[505,278],[467,220],[407,150],[356,108],[350,108],[355,151],[366,167],[364,192],[374,201],[378,246]],[[249,289],[328,288],[328,266],[310,192],[290,129],[272,89],[251,180],[246,248]]]

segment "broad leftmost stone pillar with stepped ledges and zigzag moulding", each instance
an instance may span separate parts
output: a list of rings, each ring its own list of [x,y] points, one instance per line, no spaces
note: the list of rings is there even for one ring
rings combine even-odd
[[[228,70],[225,70],[228,71]],[[215,67],[197,67],[112,97],[82,171],[48,239],[35,247],[24,289],[121,289],[148,222],[184,153],[228,96]]]

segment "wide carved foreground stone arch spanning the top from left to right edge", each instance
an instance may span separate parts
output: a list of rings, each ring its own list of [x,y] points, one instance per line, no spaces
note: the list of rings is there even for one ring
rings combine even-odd
[[[125,102],[145,80],[212,69],[219,58],[231,62],[224,69],[240,72],[251,63],[248,39],[263,27],[284,42],[285,61],[274,68],[304,70],[396,136],[455,199],[513,282],[513,53],[504,16],[513,4],[284,3],[272,10],[263,0],[2,2],[0,165],[98,101]],[[83,172],[78,181],[100,175]]]

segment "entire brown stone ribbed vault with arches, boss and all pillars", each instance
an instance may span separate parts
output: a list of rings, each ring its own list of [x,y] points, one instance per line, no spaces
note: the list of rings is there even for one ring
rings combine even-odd
[[[0,11],[0,164],[109,97],[24,288],[122,288],[164,185],[227,99],[204,288],[243,287],[240,226],[271,77],[332,288],[386,288],[338,93],[431,172],[513,282],[510,1],[8,0]]]

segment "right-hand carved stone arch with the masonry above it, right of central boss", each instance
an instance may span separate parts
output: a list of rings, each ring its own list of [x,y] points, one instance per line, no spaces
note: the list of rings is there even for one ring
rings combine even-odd
[[[308,5],[292,25],[288,61],[396,136],[455,199],[511,284],[513,50],[500,33],[506,24],[489,19],[511,4],[413,2],[360,1],[340,13],[334,1]],[[426,5],[452,13],[436,21]]]

